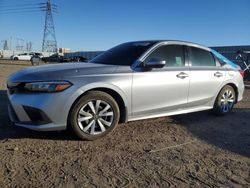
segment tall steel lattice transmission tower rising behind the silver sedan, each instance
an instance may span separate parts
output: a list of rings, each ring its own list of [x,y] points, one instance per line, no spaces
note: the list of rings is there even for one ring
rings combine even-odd
[[[50,0],[47,1],[45,11],[45,26],[44,26],[44,34],[43,34],[43,52],[57,52],[57,42],[56,42],[56,34],[55,27],[53,22],[52,12],[55,10],[56,5],[52,5]]]

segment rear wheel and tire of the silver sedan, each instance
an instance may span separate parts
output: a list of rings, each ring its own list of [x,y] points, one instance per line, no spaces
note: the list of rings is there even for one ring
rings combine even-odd
[[[230,85],[226,85],[221,89],[216,98],[213,112],[216,115],[226,115],[232,111],[235,101],[236,94],[234,88]]]

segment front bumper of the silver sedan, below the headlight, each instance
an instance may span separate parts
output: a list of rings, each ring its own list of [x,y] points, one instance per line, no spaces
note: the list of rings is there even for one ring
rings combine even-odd
[[[70,91],[25,94],[8,91],[8,114],[17,126],[37,131],[65,130],[71,107],[69,98]]]

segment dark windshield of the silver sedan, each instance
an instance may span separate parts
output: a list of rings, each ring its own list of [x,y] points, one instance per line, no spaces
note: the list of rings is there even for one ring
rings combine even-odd
[[[156,42],[124,43],[95,57],[90,63],[130,66],[154,44]]]

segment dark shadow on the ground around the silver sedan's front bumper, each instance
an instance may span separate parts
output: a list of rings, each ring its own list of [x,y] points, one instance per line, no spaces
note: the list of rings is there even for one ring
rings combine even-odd
[[[8,117],[6,90],[0,90],[0,140],[33,138],[45,140],[79,140],[70,131],[38,132],[15,126]]]

